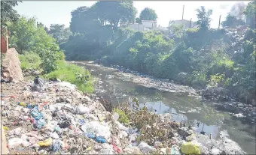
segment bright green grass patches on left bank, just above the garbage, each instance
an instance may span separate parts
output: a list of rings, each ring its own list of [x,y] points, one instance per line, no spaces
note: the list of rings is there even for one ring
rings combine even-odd
[[[34,52],[25,52],[19,55],[22,70],[42,70],[41,58]],[[83,93],[93,93],[93,78],[90,71],[66,61],[58,61],[58,69],[53,72],[41,75],[44,79],[57,78],[62,81],[70,82],[78,87]],[[30,79],[30,78],[29,78]]]

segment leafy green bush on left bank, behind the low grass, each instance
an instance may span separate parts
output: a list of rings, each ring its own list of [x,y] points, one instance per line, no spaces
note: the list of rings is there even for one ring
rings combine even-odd
[[[41,68],[44,73],[58,69],[57,61],[65,58],[56,40],[44,30],[44,26],[35,25],[35,19],[20,18],[17,23],[9,26],[11,30],[11,45],[17,46],[21,54],[32,51],[41,58]]]

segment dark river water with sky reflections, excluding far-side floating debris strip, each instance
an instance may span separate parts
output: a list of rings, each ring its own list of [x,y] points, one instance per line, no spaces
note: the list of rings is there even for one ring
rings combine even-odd
[[[242,124],[241,121],[233,119],[228,112],[217,111],[212,103],[203,102],[188,94],[145,88],[130,82],[129,78],[124,78],[126,81],[120,79],[121,73],[117,70],[85,65],[89,70],[95,70],[92,72],[93,75],[102,81],[99,90],[106,91],[99,95],[108,97],[114,105],[137,97],[139,103],[145,103],[149,109],[154,109],[157,113],[169,112],[174,121],[191,124],[199,133],[203,130],[207,135],[212,134],[213,139],[218,138],[221,130],[227,130],[230,139],[237,142],[248,154],[255,154],[255,124]]]

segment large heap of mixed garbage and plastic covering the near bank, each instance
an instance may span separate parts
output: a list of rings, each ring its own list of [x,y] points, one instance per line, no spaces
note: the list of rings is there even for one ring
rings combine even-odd
[[[212,150],[212,141],[204,147],[194,130],[145,107],[122,106],[130,118],[122,124],[122,115],[107,112],[69,82],[36,77],[3,84],[2,90],[2,125],[11,154],[208,154],[216,149],[221,154],[225,149]]]

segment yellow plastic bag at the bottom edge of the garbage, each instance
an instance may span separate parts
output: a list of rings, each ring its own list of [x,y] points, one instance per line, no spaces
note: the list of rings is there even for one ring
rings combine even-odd
[[[184,142],[181,146],[181,152],[183,154],[201,154],[199,145],[193,142]]]

